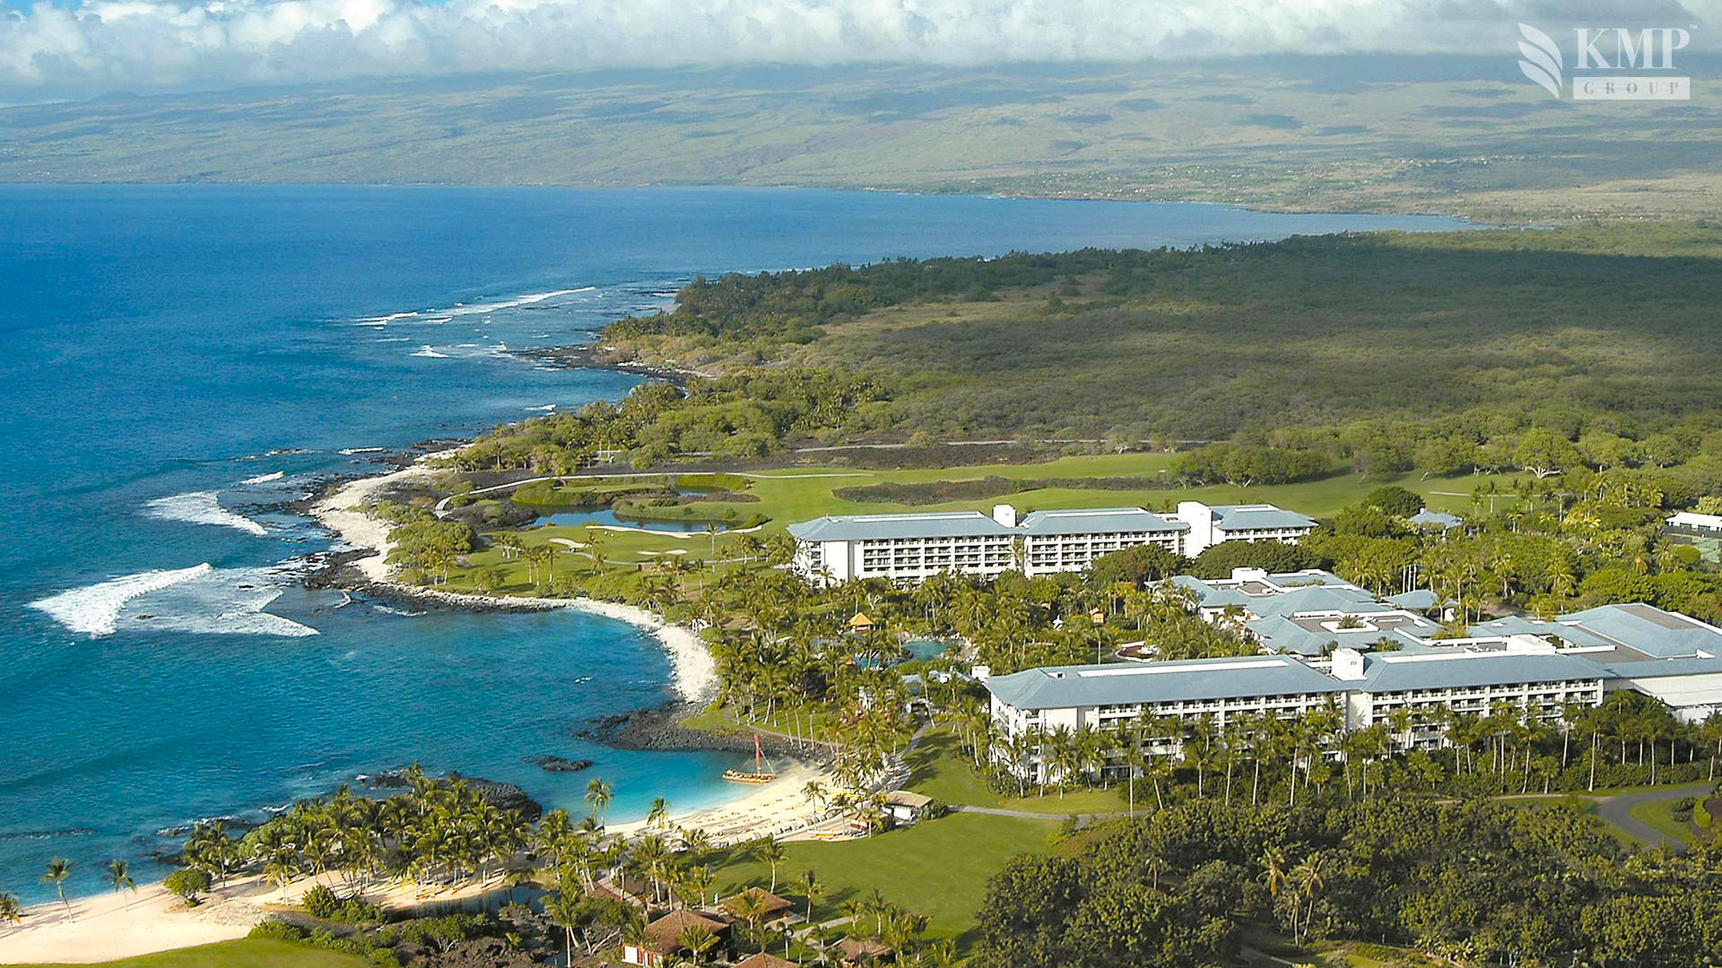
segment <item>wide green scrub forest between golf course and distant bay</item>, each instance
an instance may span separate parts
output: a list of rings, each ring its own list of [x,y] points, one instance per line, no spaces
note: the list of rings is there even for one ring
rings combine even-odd
[[[1173,484],[1338,470],[1667,470],[1722,487],[1722,231],[1474,231],[895,260],[696,279],[611,324],[682,367],[499,427],[461,467],[758,460],[804,444],[1199,448]],[[1693,462],[1698,462],[1693,467]]]

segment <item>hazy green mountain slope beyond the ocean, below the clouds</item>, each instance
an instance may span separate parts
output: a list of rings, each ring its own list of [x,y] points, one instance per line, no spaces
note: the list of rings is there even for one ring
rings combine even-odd
[[[1548,98],[1507,57],[629,71],[0,110],[5,181],[816,184],[1708,215],[1722,88]],[[1722,71],[1710,71],[1710,78]]]

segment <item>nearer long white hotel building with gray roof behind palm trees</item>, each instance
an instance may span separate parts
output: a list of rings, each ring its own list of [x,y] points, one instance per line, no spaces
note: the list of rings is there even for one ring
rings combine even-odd
[[[1378,636],[1379,637],[1379,636]],[[1343,729],[1400,727],[1393,746],[1446,746],[1446,713],[1490,715],[1510,704],[1555,723],[1562,710],[1601,704],[1608,692],[1653,696],[1686,722],[1722,711],[1722,629],[1631,603],[1560,615],[1502,618],[1465,639],[1398,629],[1397,651],[1341,646],[1331,660],[1279,653],[1245,658],[1030,668],[983,679],[1004,737],[1059,729],[1124,729],[1140,715],[1216,727],[1240,715],[1298,718],[1333,710]],[[1178,753],[1181,737],[1145,737],[1152,754]],[[1035,744],[1031,744],[1033,748]],[[1121,768],[1123,760],[1112,763]],[[1038,753],[1016,765],[1049,779]]]

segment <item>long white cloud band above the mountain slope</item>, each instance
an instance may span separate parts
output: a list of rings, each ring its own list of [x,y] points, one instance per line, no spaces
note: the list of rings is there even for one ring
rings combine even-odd
[[[1562,0],[93,0],[0,19],[45,96],[475,71],[1510,50]],[[1663,7],[1691,14],[1696,0]],[[1555,24],[1552,24],[1555,26]],[[1694,38],[1700,40],[1700,38]]]

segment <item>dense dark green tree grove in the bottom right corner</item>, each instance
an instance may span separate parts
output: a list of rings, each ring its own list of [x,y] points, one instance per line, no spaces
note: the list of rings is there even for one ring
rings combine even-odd
[[[1267,928],[1460,965],[1713,965],[1719,861],[1715,842],[1629,856],[1570,806],[1192,803],[1076,858],[1014,859],[988,885],[975,961],[1193,968]]]

